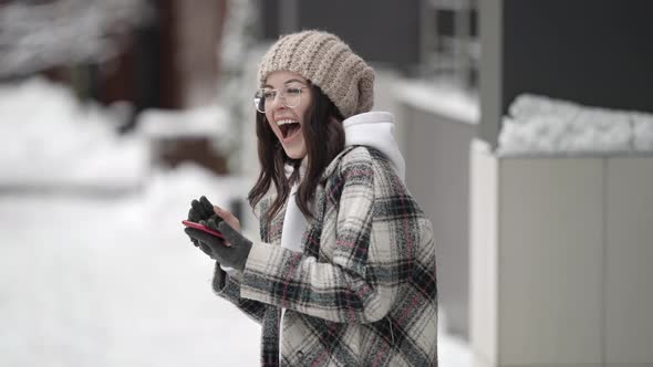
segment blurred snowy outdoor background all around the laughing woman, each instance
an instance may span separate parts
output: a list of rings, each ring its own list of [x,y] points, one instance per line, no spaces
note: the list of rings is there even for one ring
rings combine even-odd
[[[434,223],[440,366],[653,366],[653,2],[0,1],[0,365],[255,366],[179,221],[258,237],[280,34],[376,71]]]

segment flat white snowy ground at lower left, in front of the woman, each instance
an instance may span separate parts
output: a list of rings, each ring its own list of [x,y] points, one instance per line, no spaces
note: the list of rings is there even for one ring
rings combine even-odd
[[[0,365],[255,366],[259,326],[210,289],[189,200],[241,182],[198,168],[117,198],[0,196]],[[35,216],[37,214],[37,216]]]

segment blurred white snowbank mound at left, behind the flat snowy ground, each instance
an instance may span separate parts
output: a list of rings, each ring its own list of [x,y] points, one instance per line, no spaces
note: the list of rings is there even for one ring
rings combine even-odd
[[[120,136],[117,116],[44,78],[0,85],[0,114],[2,186],[128,187],[148,169],[147,145]]]

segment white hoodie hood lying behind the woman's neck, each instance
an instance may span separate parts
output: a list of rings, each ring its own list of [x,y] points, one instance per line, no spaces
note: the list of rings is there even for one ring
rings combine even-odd
[[[405,181],[406,162],[394,138],[394,116],[387,112],[367,112],[342,122],[344,145],[364,145],[385,155],[397,176]]]

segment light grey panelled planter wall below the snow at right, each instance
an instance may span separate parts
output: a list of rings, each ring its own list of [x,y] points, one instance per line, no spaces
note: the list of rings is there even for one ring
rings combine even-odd
[[[653,158],[470,151],[470,342],[490,366],[653,364]]]

